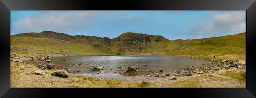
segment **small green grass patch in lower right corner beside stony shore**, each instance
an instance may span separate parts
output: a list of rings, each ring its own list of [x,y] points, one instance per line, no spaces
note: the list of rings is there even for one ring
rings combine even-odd
[[[221,73],[221,76],[230,76],[233,79],[246,83],[246,72],[234,73],[231,71],[226,71],[225,73]]]

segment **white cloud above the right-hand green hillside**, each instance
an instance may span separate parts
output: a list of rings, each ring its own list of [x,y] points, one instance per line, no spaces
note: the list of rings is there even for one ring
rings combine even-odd
[[[245,11],[207,13],[203,22],[190,30],[189,37],[195,39],[243,33],[245,26]]]

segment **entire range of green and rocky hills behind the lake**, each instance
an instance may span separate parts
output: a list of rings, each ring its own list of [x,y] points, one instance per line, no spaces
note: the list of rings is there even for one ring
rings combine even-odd
[[[43,31],[11,35],[11,52],[24,56],[173,55],[202,59],[245,60],[246,34],[168,40],[160,35],[123,33],[117,38],[71,36]],[[215,58],[213,58],[215,56]]]

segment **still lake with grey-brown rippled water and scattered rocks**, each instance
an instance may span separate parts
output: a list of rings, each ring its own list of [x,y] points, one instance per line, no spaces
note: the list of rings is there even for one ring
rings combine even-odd
[[[180,67],[185,68],[186,66],[193,66],[194,69],[199,69],[199,67],[211,67],[210,65],[216,65],[217,62],[208,60],[198,60],[191,58],[184,58],[179,56],[67,56],[67,57],[52,57],[51,62],[54,63],[56,69],[70,69],[72,72],[68,71],[70,74],[80,74],[85,76],[102,76],[104,78],[114,78],[116,80],[145,80],[148,78],[162,78],[154,77],[152,72],[158,72],[159,69],[163,69],[163,74],[165,73],[175,73],[174,70]],[[65,60],[65,61],[63,61]],[[35,63],[35,61],[38,61]],[[47,63],[41,60],[28,60],[26,61],[30,64],[44,64]],[[211,62],[211,63],[209,63]],[[82,63],[79,65],[79,63]],[[146,64],[146,65],[145,65]],[[206,64],[206,65],[202,65]],[[208,65],[209,64],[209,65]],[[121,66],[121,68],[118,68]],[[63,68],[65,67],[65,68]],[[96,74],[93,71],[93,67],[104,67],[104,73]],[[125,71],[127,67],[138,68],[140,75],[126,76],[120,74],[120,70]],[[112,69],[112,70],[111,70]],[[47,69],[46,69],[47,70]],[[76,72],[78,70],[82,70]],[[152,71],[151,71],[152,70]],[[107,73],[108,72],[108,73]],[[117,75],[114,75],[114,73]],[[152,74],[150,77],[145,75],[146,73]],[[142,76],[144,75],[144,76]],[[160,75],[160,74],[159,74]],[[170,76],[174,76],[170,74]]]

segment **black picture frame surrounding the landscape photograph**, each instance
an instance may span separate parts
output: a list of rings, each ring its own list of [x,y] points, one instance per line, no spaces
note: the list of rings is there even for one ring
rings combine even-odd
[[[246,89],[14,89],[10,88],[10,10],[246,10]],[[255,98],[255,0],[0,0],[0,96],[3,98],[56,95],[187,96],[197,98]],[[94,93],[94,94],[93,94]]]

